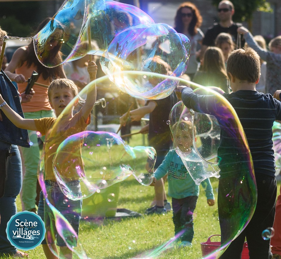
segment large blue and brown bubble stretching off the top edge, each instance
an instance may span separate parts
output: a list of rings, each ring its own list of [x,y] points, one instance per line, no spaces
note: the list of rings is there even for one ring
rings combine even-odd
[[[140,23],[154,22],[135,6],[111,0],[64,1],[52,20],[33,37],[35,52],[49,67],[85,54],[101,55],[116,32]],[[81,44],[88,43],[89,37],[94,46]],[[62,60],[52,59],[54,47],[62,53]]]

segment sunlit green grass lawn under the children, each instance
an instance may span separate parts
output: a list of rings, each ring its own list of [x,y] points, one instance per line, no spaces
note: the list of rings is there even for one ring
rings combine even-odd
[[[145,140],[146,141],[146,140]],[[130,146],[143,145],[141,135],[132,136]],[[147,144],[146,144],[147,145]],[[215,199],[218,180],[211,179]],[[167,192],[167,183],[165,183]],[[280,184],[278,184],[278,191]],[[279,193],[278,193],[279,194]],[[174,236],[172,212],[165,215],[144,215],[154,197],[154,188],[142,186],[133,176],[120,183],[118,208],[126,208],[143,214],[143,217],[123,220],[104,219],[100,222],[81,219],[79,241],[89,258],[126,259],[134,258],[161,246]],[[171,198],[168,197],[171,202]],[[20,198],[17,199],[21,210]],[[94,208],[93,208],[94,210]],[[213,234],[220,234],[217,200],[213,207],[206,202],[205,192],[200,188],[200,196],[194,212],[194,239],[192,247],[172,248],[161,253],[158,258],[201,258],[201,242]],[[219,241],[219,238],[212,241]],[[45,258],[41,246],[28,251],[29,258]],[[73,256],[73,258],[77,258]]]

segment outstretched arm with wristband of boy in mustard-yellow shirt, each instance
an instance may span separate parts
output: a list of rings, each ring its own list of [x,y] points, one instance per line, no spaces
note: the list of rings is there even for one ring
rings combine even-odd
[[[37,128],[35,126],[33,119],[24,119],[19,114],[17,114],[8,104],[5,104],[5,100],[0,94],[0,105],[3,105],[1,107],[1,111],[4,112],[4,114],[7,116],[7,118],[18,128],[23,128],[31,131],[36,131]]]

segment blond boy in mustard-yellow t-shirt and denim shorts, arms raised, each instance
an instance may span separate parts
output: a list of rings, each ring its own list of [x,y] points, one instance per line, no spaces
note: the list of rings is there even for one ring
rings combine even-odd
[[[97,73],[97,65],[95,64],[95,62],[91,61],[88,63],[88,73],[91,75],[92,80],[95,80]],[[48,87],[49,102],[51,104],[51,107],[54,109],[57,117],[62,113],[64,108],[76,95],[78,95],[78,88],[75,83],[69,79],[56,79]],[[59,144],[68,136],[85,131],[85,128],[88,126],[88,124],[90,124],[90,113],[95,104],[96,96],[96,87],[92,86],[88,90],[86,101],[80,111],[73,115],[74,106],[78,104],[77,98],[71,111],[64,114],[64,116],[60,119],[59,127],[56,130],[56,139],[54,140],[52,138],[48,138],[48,135],[46,137],[45,185],[48,192],[48,198],[51,203],[54,203],[53,205],[61,212],[61,214],[66,217],[68,222],[76,231],[77,235],[81,217],[82,200],[71,201],[71,203],[69,204],[64,204],[64,200],[68,198],[61,192],[54,176],[54,172],[52,169],[52,160],[54,155],[52,154],[56,152]],[[42,135],[45,135],[48,133],[49,129],[52,128],[56,121],[56,118],[23,119],[20,115],[14,112],[8,106],[8,104],[6,104],[1,95],[0,104],[2,112],[4,112],[8,119],[18,128],[39,131]],[[77,192],[76,195],[79,195],[78,193],[80,193],[80,181],[78,179],[79,178],[77,176],[77,173],[71,172],[69,175],[69,182],[66,183],[67,185],[75,186],[75,190]],[[72,212],[70,213],[70,211]],[[73,213],[73,211],[75,212]],[[44,214],[47,215],[46,212],[44,213],[44,197],[42,195],[42,191],[40,193],[38,214],[42,217],[43,220]],[[45,221],[46,220],[49,222],[52,219],[45,216]],[[54,229],[54,231],[56,231],[56,229]],[[63,239],[59,235],[57,235],[56,238],[57,245],[60,247],[60,253],[62,254],[62,256],[64,258],[72,258],[72,251],[66,246]],[[45,239],[42,241],[42,246],[46,257],[57,258],[57,256],[52,253],[52,251],[54,251],[57,255],[59,254],[57,247],[54,244],[54,240],[48,240],[48,243],[50,248],[48,247]]]

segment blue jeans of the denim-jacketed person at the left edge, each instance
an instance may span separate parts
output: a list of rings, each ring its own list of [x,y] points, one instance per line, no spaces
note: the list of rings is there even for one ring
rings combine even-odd
[[[1,149],[10,146],[11,144],[0,141]],[[16,152],[16,155],[11,156],[9,159],[5,193],[4,196],[0,198],[0,254],[16,253],[16,248],[12,246],[7,239],[6,227],[10,218],[17,213],[16,197],[20,193],[22,186],[22,167],[18,146],[12,145],[11,153],[12,152]]]

